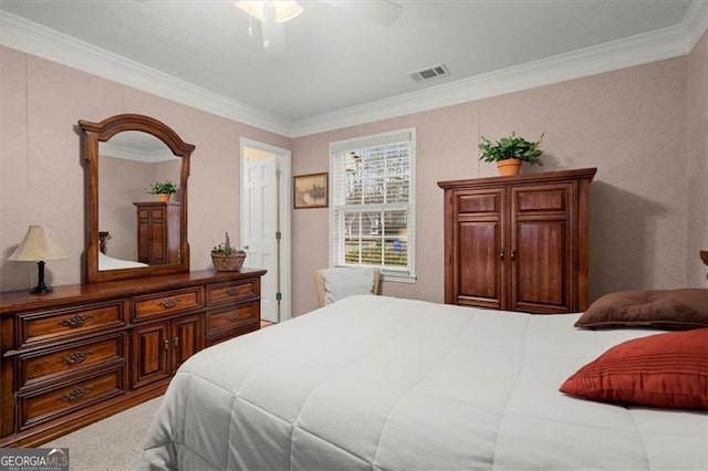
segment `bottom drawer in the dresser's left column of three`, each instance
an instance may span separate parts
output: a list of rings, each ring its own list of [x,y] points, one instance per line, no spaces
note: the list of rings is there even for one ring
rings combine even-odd
[[[20,395],[20,430],[122,395],[123,371],[118,368],[56,389]]]

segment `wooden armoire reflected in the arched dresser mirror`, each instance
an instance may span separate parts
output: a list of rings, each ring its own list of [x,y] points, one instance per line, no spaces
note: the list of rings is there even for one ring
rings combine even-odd
[[[137,261],[148,265],[179,263],[180,205],[134,202],[137,209]]]

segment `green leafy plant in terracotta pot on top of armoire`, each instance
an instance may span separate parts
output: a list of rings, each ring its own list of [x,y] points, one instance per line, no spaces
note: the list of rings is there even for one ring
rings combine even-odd
[[[543,165],[539,159],[539,156],[543,154],[540,148],[542,139],[543,134],[539,140],[530,142],[517,136],[513,130],[511,136],[502,137],[496,143],[482,136],[482,142],[479,145],[481,150],[479,159],[489,163],[496,161],[501,176],[518,175],[523,161],[530,165]]]

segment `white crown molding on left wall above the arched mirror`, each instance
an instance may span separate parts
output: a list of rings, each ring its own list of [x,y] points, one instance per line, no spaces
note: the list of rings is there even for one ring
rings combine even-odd
[[[0,10],[0,44],[239,123],[283,136],[291,134],[288,119],[3,10]]]

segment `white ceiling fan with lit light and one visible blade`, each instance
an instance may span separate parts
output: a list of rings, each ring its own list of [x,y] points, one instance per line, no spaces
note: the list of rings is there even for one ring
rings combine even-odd
[[[400,4],[389,0],[316,1],[327,3],[346,13],[366,18],[385,27],[393,25],[403,12]],[[261,22],[262,44],[266,50],[280,50],[284,46],[283,23],[298,17],[304,10],[303,6],[295,0],[237,0],[235,3],[249,14],[249,34],[253,34],[253,18]]]

